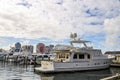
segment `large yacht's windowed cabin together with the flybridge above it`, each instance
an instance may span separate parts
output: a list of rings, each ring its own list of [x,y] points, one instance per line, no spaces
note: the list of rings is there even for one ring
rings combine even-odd
[[[86,43],[90,41],[86,40],[73,40],[70,41],[71,45],[56,45],[55,47],[55,61],[69,62],[69,61],[89,61],[91,55],[85,52],[85,50],[91,50],[92,47],[87,46]],[[79,45],[76,47],[76,45]],[[83,52],[82,52],[83,51]]]

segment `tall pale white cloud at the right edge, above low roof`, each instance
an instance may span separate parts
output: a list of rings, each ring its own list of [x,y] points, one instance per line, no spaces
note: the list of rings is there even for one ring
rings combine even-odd
[[[106,48],[120,50],[120,16],[105,20]]]

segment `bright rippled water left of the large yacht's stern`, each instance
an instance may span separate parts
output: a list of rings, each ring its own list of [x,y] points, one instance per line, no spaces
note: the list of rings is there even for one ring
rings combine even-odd
[[[33,66],[0,62],[0,80],[40,80],[40,76],[34,74]]]

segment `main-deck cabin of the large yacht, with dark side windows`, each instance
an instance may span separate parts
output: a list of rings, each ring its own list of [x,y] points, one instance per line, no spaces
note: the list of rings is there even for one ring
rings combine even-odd
[[[89,61],[90,60],[90,54],[85,52],[75,52],[75,51],[69,51],[69,50],[59,50],[55,52],[56,57],[54,61],[60,61],[60,62],[77,62],[77,61]]]

